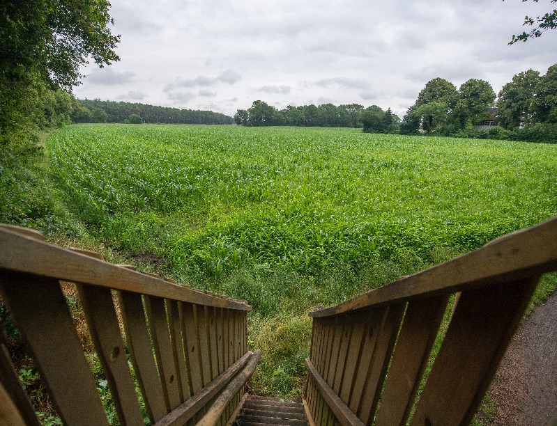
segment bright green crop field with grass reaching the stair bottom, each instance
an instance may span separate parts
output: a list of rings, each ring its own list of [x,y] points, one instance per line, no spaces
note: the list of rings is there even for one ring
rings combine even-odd
[[[61,196],[98,241],[247,299],[262,393],[299,393],[316,304],[557,214],[557,145],[301,127],[73,125]]]

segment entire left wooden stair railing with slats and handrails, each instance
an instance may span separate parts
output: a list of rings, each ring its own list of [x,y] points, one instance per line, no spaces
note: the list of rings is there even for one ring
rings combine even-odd
[[[126,352],[151,423],[227,423],[260,354],[247,350],[245,301],[42,240],[32,230],[0,227],[0,297],[64,424],[108,424],[63,293],[68,283],[77,288],[121,425],[144,424]],[[5,421],[39,424],[2,344]]]

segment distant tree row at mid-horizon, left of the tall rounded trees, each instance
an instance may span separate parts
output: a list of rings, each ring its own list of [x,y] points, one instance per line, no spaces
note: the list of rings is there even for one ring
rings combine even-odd
[[[365,127],[360,117],[376,114],[381,116],[378,131],[391,131],[400,122],[400,118],[388,109],[389,120],[382,120],[386,111],[372,105],[365,108],[360,104],[314,104],[277,109],[261,100],[256,100],[248,109],[238,109],[234,114],[236,124],[248,127],[260,126],[299,126],[299,127]],[[367,123],[367,122],[366,122]],[[383,125],[384,124],[384,125]]]

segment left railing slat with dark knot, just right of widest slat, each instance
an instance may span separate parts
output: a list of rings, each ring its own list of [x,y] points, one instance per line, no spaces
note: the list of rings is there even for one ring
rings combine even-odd
[[[106,287],[86,284],[78,284],[77,292],[120,423],[142,423],[143,416],[139,409],[128,358],[125,356],[112,293]]]

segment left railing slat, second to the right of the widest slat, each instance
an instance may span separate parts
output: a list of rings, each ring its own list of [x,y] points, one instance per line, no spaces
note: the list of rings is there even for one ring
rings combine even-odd
[[[167,413],[162,385],[153,356],[153,347],[147,329],[142,297],[132,292],[116,292],[125,338],[130,350],[130,358],[135,370],[139,388],[142,391],[147,413],[152,423]]]

